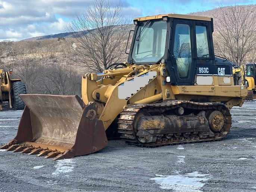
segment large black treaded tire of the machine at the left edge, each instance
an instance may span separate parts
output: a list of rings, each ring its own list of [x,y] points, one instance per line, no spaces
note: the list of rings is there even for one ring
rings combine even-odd
[[[15,110],[23,110],[25,108],[25,104],[19,94],[26,94],[26,86],[21,81],[13,83],[13,108]]]

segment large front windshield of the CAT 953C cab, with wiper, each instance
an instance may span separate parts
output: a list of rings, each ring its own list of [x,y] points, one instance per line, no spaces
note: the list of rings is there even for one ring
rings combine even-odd
[[[157,62],[165,53],[166,21],[145,21],[139,23],[132,59],[134,62]]]

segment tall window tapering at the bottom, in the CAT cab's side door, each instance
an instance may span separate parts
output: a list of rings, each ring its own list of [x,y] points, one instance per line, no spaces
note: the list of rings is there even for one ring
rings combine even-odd
[[[174,39],[174,56],[177,63],[179,78],[188,78],[191,65],[191,40],[190,26],[187,24],[176,25]]]

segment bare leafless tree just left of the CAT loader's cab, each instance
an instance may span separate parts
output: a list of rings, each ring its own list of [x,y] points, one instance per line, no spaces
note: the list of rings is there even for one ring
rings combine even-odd
[[[67,28],[73,33],[74,60],[90,70],[102,72],[112,63],[123,61],[128,35],[127,20],[122,15],[122,3],[95,0],[81,15],[71,20]],[[75,44],[74,44],[75,43]]]

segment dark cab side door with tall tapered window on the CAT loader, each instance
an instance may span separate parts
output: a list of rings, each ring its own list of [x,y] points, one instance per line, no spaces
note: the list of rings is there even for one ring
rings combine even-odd
[[[193,85],[196,67],[192,54],[194,47],[193,20],[173,19],[170,59],[167,66],[172,85]]]

